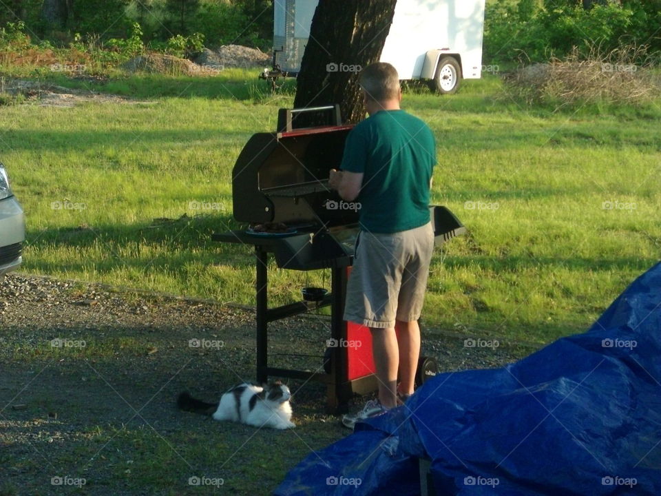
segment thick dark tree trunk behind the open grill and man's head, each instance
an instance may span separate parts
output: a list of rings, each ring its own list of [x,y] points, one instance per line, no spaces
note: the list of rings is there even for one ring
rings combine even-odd
[[[379,61],[397,0],[319,0],[294,107],[339,103],[346,123],[365,116],[358,73]],[[309,125],[309,124],[308,124]]]

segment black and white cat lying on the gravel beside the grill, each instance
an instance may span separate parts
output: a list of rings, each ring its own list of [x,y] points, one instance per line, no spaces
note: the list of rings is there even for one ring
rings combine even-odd
[[[189,393],[181,393],[177,405],[181,410],[211,415],[213,420],[230,420],[255,427],[286,429],[291,422],[291,393],[280,381],[265,387],[244,382],[222,393],[220,402],[196,400]]]

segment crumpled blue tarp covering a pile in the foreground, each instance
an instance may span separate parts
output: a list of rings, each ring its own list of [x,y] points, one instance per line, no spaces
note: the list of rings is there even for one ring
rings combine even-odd
[[[661,495],[661,263],[587,333],[443,373],[287,475],[277,496]]]

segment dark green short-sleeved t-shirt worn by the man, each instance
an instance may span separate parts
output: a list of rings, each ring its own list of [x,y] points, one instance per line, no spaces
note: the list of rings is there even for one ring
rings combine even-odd
[[[381,110],[346,138],[342,170],[362,172],[360,225],[394,233],[429,222],[429,182],[436,163],[428,125],[403,110]]]

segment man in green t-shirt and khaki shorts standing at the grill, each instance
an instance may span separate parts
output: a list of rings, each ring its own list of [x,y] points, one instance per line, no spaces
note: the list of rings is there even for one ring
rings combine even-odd
[[[360,203],[361,231],[344,318],[370,328],[379,399],[357,415],[345,415],[348,427],[413,392],[420,354],[417,320],[434,247],[428,207],[434,136],[423,121],[399,108],[399,76],[392,65],[369,65],[360,85],[370,116],[348,135],[342,171],[331,171],[330,187],[344,200]]]

